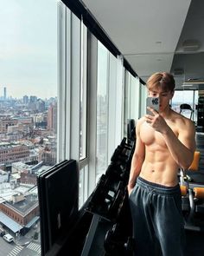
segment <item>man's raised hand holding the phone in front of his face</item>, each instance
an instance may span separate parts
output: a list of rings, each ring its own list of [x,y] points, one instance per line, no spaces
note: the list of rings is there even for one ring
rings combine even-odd
[[[150,124],[152,128],[154,128],[157,132],[160,132],[161,134],[167,133],[169,130],[169,126],[166,123],[166,121],[163,119],[162,115],[159,115],[159,113],[150,107],[147,107],[153,115],[145,115],[145,121]]]

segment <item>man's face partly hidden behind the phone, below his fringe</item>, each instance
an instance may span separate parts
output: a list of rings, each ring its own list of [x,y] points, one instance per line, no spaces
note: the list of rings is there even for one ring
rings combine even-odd
[[[159,112],[162,112],[167,107],[169,108],[169,101],[172,99],[174,95],[174,91],[167,91],[160,88],[155,88],[155,89],[149,89],[148,95],[150,97],[159,98]]]

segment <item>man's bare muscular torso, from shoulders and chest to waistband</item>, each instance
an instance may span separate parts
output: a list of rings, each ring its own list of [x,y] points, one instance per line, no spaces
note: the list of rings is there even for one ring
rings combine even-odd
[[[166,120],[176,136],[180,132],[181,115],[172,115],[171,120]],[[145,145],[145,159],[140,176],[146,181],[174,187],[177,181],[178,165],[171,156],[163,139],[163,135],[143,121],[140,126],[140,139]]]

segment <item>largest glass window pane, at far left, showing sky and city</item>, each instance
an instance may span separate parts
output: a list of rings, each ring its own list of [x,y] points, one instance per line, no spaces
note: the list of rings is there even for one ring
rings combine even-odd
[[[55,0],[1,1],[0,226],[14,242],[1,239],[0,256],[41,252],[36,175],[56,163],[56,22]]]

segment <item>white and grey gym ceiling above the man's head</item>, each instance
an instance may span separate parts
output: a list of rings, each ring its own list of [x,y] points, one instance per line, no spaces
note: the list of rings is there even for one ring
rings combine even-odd
[[[157,71],[175,69],[183,70],[175,75],[177,88],[188,78],[204,78],[203,0],[83,3],[144,82]],[[185,51],[182,43],[187,39],[198,40],[200,49]]]

